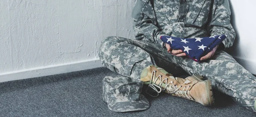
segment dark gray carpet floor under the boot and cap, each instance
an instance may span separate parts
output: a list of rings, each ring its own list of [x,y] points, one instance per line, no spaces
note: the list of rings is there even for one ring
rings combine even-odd
[[[0,83],[1,117],[256,117],[230,97],[218,92],[215,107],[161,93],[145,95],[151,107],[145,111],[116,113],[102,100],[102,79],[115,75],[107,68],[70,72]]]

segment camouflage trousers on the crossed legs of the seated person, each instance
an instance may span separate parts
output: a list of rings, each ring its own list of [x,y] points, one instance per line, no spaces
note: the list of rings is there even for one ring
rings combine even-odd
[[[184,71],[201,75],[211,80],[212,88],[255,111],[256,78],[224,51],[217,51],[212,58],[199,63],[172,56],[160,44],[111,36],[102,41],[99,58],[108,69],[130,78],[140,79],[142,70],[151,64],[176,76]]]

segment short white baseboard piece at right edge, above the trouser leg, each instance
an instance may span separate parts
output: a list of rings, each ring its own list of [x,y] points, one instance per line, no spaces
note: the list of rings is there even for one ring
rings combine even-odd
[[[246,70],[256,75],[256,60],[233,56]]]

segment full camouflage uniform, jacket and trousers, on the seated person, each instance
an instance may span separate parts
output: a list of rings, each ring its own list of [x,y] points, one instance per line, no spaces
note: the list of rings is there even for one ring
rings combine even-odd
[[[157,64],[172,74],[186,71],[202,75],[212,86],[239,103],[253,109],[256,78],[226,52],[219,50],[203,62],[172,56],[162,47],[160,36],[196,38],[227,35],[220,45],[233,45],[236,33],[230,24],[228,0],[136,0],[132,17],[135,39],[107,37],[99,57],[102,64],[120,75],[140,78],[143,68]]]

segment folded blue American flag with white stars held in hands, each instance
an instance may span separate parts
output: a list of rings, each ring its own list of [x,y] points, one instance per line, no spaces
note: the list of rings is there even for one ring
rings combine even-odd
[[[189,58],[200,61],[200,58],[207,55],[214,47],[219,45],[225,35],[202,37],[202,38],[177,38],[172,36],[161,36],[160,39],[169,44],[173,50],[183,50]]]

